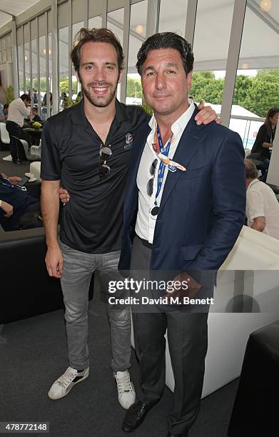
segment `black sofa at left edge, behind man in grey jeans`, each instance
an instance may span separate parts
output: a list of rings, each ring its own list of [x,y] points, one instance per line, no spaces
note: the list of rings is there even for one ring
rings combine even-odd
[[[45,256],[44,228],[0,231],[0,325],[64,308],[60,281],[49,276]]]

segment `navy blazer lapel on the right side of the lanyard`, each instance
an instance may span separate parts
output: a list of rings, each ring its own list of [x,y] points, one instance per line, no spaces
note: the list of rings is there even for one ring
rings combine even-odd
[[[191,119],[188,122],[186,129],[184,129],[181,139],[176,148],[176,153],[173,156],[173,161],[176,161],[178,164],[183,165],[186,168],[186,171],[189,162],[203,143],[204,136],[206,136],[206,132],[203,131],[205,125],[201,124],[200,126],[198,126],[196,124],[196,121],[194,120],[196,114],[198,114],[197,109],[193,112],[193,115],[191,116]],[[174,173],[168,171],[166,183],[163,188],[159,214],[164,204],[166,204],[168,196],[171,194],[173,187],[176,185],[176,182],[178,181],[182,173],[183,171],[181,170],[177,170]]]

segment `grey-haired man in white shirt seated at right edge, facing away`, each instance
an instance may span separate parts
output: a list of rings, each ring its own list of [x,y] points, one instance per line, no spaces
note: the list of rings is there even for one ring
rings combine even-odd
[[[245,159],[246,217],[247,224],[255,231],[279,239],[279,204],[270,186],[258,180],[258,170]]]

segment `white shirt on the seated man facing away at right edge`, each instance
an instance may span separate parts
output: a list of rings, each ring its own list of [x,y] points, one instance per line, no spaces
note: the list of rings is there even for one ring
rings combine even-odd
[[[265,217],[265,228],[273,238],[279,239],[279,204],[270,186],[254,179],[248,185],[246,192],[246,217],[249,227],[254,218]]]

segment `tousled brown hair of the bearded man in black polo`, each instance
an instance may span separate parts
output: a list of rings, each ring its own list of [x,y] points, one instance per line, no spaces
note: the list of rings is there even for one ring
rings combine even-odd
[[[123,69],[123,49],[117,36],[109,29],[85,29],[84,27],[78,31],[73,40],[73,49],[71,50],[71,61],[73,62],[73,68],[79,72],[81,63],[81,47],[86,42],[106,42],[112,44],[116,49],[118,70]]]

